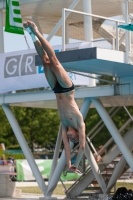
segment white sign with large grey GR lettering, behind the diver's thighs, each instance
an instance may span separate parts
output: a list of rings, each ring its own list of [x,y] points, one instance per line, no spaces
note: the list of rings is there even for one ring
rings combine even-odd
[[[43,67],[35,66],[35,49],[0,54],[0,93],[46,88],[49,84]],[[88,85],[90,78],[68,73],[75,85]]]

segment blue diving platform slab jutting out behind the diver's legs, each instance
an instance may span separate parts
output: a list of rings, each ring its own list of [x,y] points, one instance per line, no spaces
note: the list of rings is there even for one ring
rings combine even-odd
[[[125,53],[122,51],[93,47],[57,52],[56,56],[66,71],[113,77],[133,76],[133,67],[130,64],[125,64]],[[35,65],[42,65],[39,56],[36,56]]]

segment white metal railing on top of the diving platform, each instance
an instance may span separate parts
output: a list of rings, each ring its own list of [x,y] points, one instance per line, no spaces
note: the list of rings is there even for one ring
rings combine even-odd
[[[66,12],[77,13],[77,14],[80,14],[80,15],[86,15],[86,16],[95,17],[95,18],[98,18],[98,19],[109,20],[111,22],[114,22],[115,23],[116,43],[115,43],[115,48],[113,48],[113,49],[119,50],[120,41],[119,41],[118,25],[124,24],[125,21],[116,20],[116,19],[112,19],[112,18],[100,16],[100,15],[94,15],[94,14],[89,14],[89,13],[85,13],[85,12],[80,12],[80,11],[76,11],[76,10],[63,8],[62,9],[62,51],[65,51],[65,29],[66,29],[65,21],[66,21],[67,17],[69,16],[68,14],[66,15]],[[129,34],[129,31],[126,31],[125,33],[126,33],[125,36],[124,36],[124,38],[125,38],[125,50],[126,50],[126,54],[127,54],[126,57],[128,57],[128,51],[129,51],[129,46],[130,46],[128,44],[129,43],[128,40],[130,40],[130,38],[129,38],[130,34]],[[128,37],[127,37],[127,34],[128,34]]]

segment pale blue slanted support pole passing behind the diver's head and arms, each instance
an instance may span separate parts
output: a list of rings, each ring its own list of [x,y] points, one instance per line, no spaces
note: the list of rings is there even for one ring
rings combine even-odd
[[[82,104],[82,107],[80,109],[80,112],[82,113],[84,119],[88,113],[90,105],[91,105],[90,99],[85,98],[85,100]],[[70,142],[70,149],[72,149],[73,146],[74,146],[73,143]],[[55,189],[65,165],[66,165],[66,158],[65,158],[65,151],[63,150],[60,160],[58,162],[58,165],[57,165],[57,167],[53,173],[53,176],[51,178],[51,181],[48,184],[47,196],[50,196],[52,194],[53,190]]]

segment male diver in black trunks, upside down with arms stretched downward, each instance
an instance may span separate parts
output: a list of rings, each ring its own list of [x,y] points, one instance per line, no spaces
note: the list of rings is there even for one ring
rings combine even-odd
[[[52,46],[39,32],[35,23],[27,21],[23,26],[31,35],[36,51],[42,60],[46,79],[56,95],[68,171],[80,173],[77,168],[85,148],[85,124],[74,100],[74,84],[58,61]],[[73,143],[79,141],[74,165],[71,165],[69,140]]]

